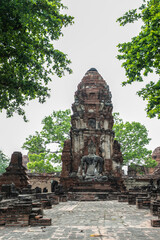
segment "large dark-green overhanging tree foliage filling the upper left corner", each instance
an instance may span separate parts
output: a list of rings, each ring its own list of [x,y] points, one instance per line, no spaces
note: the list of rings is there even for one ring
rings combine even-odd
[[[49,97],[49,74],[61,77],[70,60],[53,42],[73,17],[62,13],[61,0],[1,0],[0,4],[0,111],[26,120],[23,107]]]

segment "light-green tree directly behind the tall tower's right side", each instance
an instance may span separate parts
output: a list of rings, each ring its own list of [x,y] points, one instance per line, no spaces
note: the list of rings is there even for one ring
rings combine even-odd
[[[157,164],[151,157],[152,151],[145,147],[151,140],[146,127],[139,122],[123,122],[119,113],[113,116],[113,130],[115,139],[121,144],[123,164],[155,167]]]

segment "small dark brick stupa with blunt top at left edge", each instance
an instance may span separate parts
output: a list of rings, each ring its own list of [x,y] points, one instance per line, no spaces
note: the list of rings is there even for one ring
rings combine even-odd
[[[0,190],[2,184],[14,183],[17,189],[26,188],[29,185],[26,168],[22,165],[21,152],[14,152],[11,156],[6,172],[0,177]]]

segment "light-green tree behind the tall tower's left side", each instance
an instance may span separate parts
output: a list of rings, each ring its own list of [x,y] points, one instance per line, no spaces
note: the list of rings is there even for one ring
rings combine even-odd
[[[26,138],[22,148],[28,150],[28,169],[32,172],[54,172],[61,170],[61,153],[64,141],[69,138],[69,109],[53,111],[42,120],[42,131]],[[53,149],[53,151],[51,150]]]

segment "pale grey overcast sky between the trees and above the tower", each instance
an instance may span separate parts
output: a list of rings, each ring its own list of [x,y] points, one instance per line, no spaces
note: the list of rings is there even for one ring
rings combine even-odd
[[[53,43],[71,59],[71,75],[62,78],[52,76],[51,97],[44,104],[34,100],[25,107],[28,123],[17,114],[6,118],[5,111],[0,113],[0,149],[10,157],[14,151],[21,151],[25,139],[42,128],[41,121],[53,110],[71,108],[77,85],[92,67],[96,68],[107,82],[112,93],[113,112],[119,112],[124,121],[136,121],[146,126],[152,139],[147,146],[154,150],[160,146],[160,120],[146,116],[144,102],[136,92],[144,83],[133,83],[122,87],[126,80],[121,62],[117,60],[119,43],[130,41],[136,36],[141,22],[120,27],[116,19],[126,11],[140,6],[142,0],[62,0],[68,7],[65,12],[75,17],[75,23],[63,30],[64,36]]]

